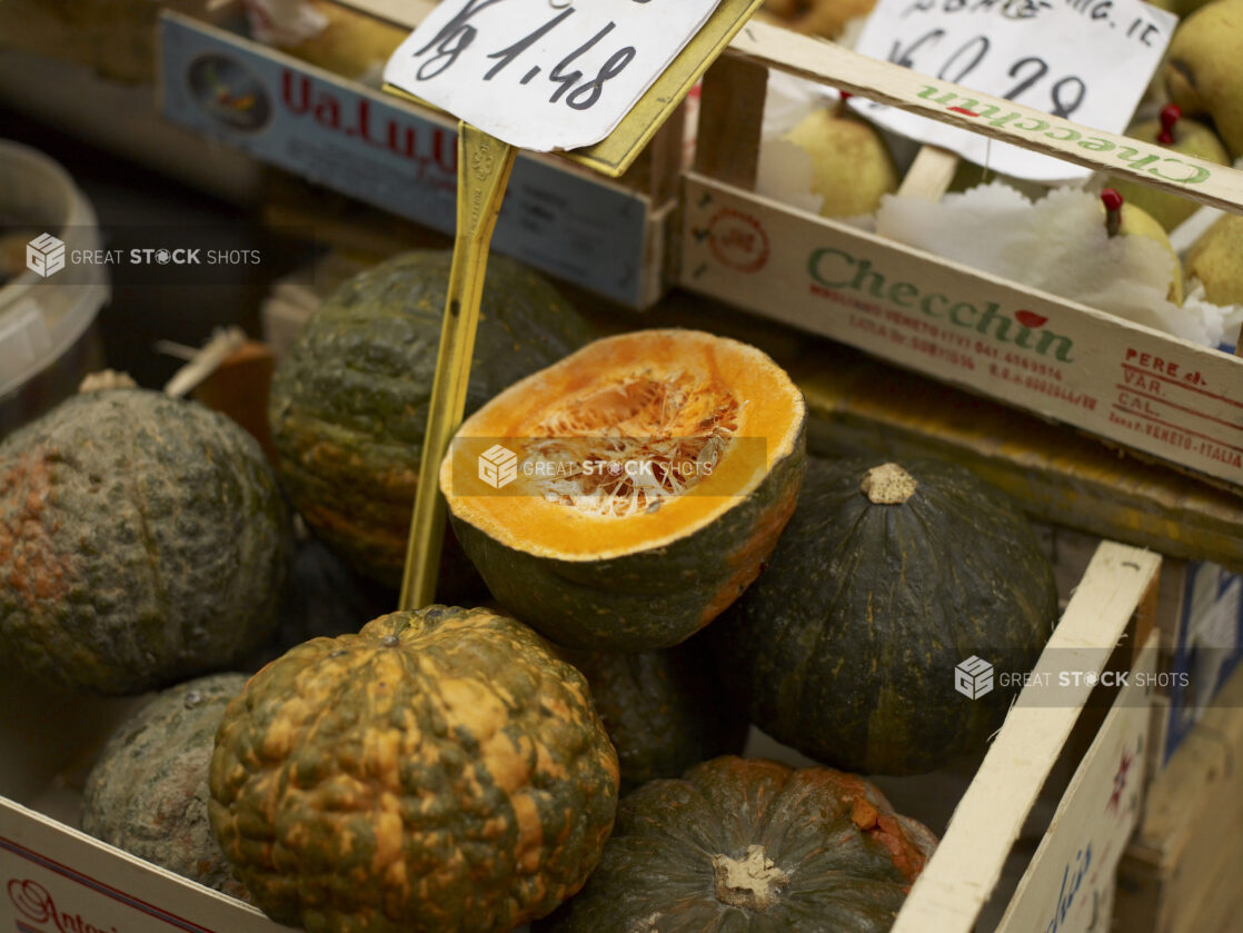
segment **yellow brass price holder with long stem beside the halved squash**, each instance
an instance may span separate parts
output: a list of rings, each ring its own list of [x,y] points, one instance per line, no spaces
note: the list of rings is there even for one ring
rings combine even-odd
[[[762,4],[763,0],[721,0],[686,46],[604,139],[558,154],[610,178],[622,175]],[[429,106],[392,83],[385,83],[384,90]],[[445,500],[439,489],[440,463],[462,422],[488,244],[516,156],[517,147],[501,142],[465,121],[459,122],[457,229],[406,546],[399,606],[403,610],[426,606],[435,598],[445,531]]]

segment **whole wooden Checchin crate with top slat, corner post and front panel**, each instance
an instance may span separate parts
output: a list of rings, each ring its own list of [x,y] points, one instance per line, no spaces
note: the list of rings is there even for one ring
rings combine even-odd
[[[1158,146],[752,22],[704,81],[677,270],[692,291],[1243,486],[1243,358],[757,195],[769,67],[1236,213],[1243,173],[1188,159],[1202,182],[1178,184],[1120,157],[1134,143],[1160,167],[1175,157]]]

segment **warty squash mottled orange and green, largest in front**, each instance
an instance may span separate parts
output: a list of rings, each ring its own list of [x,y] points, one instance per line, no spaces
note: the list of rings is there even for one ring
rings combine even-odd
[[[308,933],[501,933],[578,891],[617,754],[587,682],[515,620],[429,606],[316,638],[229,707],[213,829]]]

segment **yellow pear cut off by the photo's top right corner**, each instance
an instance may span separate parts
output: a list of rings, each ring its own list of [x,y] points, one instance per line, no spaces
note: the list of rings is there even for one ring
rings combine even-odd
[[[1162,76],[1183,113],[1207,114],[1231,158],[1243,156],[1243,0],[1214,0],[1178,24]]]

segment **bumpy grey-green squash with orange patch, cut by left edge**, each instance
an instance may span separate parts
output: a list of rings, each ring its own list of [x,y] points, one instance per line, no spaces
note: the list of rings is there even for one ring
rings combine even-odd
[[[44,679],[123,694],[232,667],[291,560],[257,442],[196,402],[80,393],[0,443],[0,649]]]

